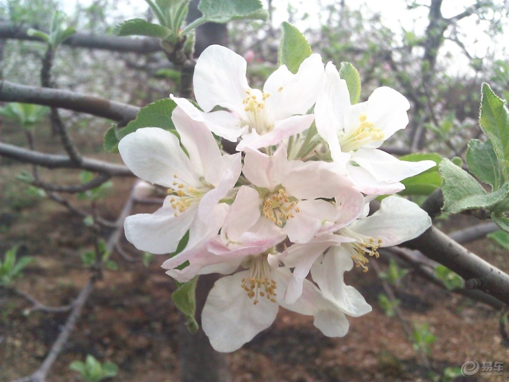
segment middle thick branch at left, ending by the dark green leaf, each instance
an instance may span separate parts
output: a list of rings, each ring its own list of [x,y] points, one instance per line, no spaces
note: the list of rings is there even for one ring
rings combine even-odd
[[[20,85],[10,81],[0,82],[0,101],[61,107],[124,123],[135,119],[139,111],[139,107],[105,98],[86,96],[68,90]]]

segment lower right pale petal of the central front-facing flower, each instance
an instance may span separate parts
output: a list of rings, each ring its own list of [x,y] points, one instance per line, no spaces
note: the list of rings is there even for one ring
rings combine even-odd
[[[283,231],[294,243],[307,243],[320,229],[331,227],[339,219],[339,211],[329,202],[322,199],[300,201],[299,212],[294,212]]]

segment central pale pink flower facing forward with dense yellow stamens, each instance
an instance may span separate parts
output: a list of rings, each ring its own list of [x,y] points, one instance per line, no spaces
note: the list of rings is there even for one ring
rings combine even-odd
[[[341,219],[342,211],[321,198],[342,195],[348,208],[357,214],[362,210],[362,195],[346,177],[334,172],[331,163],[287,160],[283,144],[273,156],[248,149],[243,173],[259,190],[266,219],[294,243],[310,241],[319,230]]]

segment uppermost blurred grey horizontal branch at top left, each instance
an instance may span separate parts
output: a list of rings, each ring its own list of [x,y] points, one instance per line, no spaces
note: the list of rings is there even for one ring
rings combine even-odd
[[[0,39],[32,40],[41,39],[27,34],[29,28],[16,26],[10,22],[0,21]],[[64,45],[92,49],[105,49],[117,52],[151,53],[161,49],[158,39],[131,39],[77,32],[63,42]]]

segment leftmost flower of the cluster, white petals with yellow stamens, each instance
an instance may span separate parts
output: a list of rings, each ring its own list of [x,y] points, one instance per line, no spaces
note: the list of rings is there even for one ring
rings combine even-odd
[[[203,231],[217,232],[226,216],[218,203],[235,185],[242,167],[240,154],[221,155],[203,123],[178,107],[172,120],[189,157],[174,134],[158,128],[138,129],[118,145],[136,176],[168,188],[169,196],[156,212],[129,216],[124,223],[125,237],[152,253],[175,251],[188,229],[188,246],[201,240]]]

